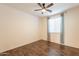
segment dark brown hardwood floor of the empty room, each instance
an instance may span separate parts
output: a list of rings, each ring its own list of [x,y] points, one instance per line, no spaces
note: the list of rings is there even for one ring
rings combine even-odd
[[[39,40],[3,52],[0,56],[79,56],[79,49]]]

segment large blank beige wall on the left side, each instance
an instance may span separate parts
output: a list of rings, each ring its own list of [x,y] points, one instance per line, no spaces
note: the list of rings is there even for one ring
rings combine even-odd
[[[0,6],[0,52],[39,40],[39,18]]]

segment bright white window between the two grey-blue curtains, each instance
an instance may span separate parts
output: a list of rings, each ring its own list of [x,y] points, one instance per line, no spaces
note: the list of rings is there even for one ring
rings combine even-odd
[[[50,17],[48,20],[48,30],[49,32],[61,32],[61,16]]]

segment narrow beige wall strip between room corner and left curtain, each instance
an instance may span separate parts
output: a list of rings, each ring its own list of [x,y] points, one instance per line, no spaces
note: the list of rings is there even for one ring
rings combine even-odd
[[[40,39],[47,40],[47,17],[40,17]]]

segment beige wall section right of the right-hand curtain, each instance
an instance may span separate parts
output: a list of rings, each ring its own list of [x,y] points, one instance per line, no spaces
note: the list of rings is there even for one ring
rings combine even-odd
[[[65,12],[64,22],[65,45],[79,48],[79,7]]]

